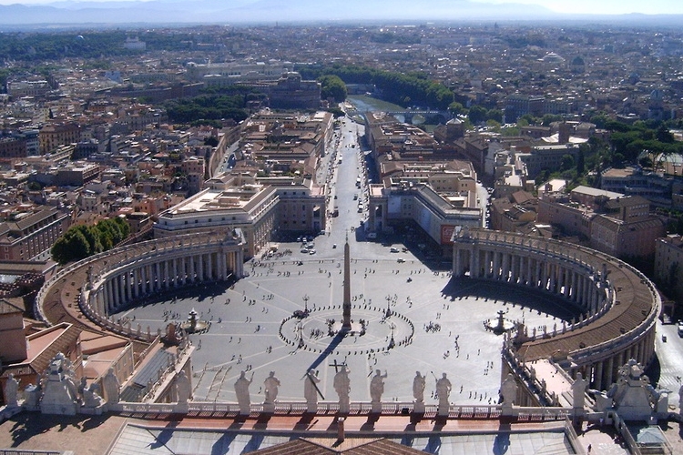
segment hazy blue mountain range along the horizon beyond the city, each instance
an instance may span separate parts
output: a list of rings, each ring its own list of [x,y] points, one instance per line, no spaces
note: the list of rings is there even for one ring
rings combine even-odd
[[[467,0],[152,0],[0,5],[0,26],[418,21],[609,21],[679,25],[681,15],[561,15],[538,5]]]

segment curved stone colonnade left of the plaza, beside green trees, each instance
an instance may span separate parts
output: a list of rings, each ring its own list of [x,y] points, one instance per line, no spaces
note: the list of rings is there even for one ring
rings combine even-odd
[[[49,320],[45,309],[55,304],[52,300],[65,284],[78,283],[77,304],[87,319],[130,335],[129,329],[109,319],[111,314],[173,288],[242,278],[244,247],[242,233],[236,229],[227,235],[183,235],[114,248],[63,268],[50,278],[36,296],[36,314],[57,322]],[[70,303],[63,304],[71,308]],[[71,316],[77,319],[79,315]]]

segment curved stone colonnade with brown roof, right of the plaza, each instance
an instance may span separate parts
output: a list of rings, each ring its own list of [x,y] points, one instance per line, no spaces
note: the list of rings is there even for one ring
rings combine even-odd
[[[661,307],[657,289],[625,262],[590,248],[507,232],[462,229],[454,236],[454,276],[536,288],[582,313],[561,329],[517,334],[514,359],[555,359],[593,389],[606,389],[628,359],[647,365],[655,354]]]

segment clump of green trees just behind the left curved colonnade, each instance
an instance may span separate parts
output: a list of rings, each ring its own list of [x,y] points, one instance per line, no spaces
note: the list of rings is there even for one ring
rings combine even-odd
[[[99,221],[93,226],[69,227],[50,249],[52,258],[66,264],[107,251],[128,237],[130,227],[122,217]]]

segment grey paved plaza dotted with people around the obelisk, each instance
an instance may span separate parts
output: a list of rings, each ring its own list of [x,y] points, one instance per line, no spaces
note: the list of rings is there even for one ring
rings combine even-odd
[[[342,319],[343,246],[331,248],[331,241],[316,238],[316,255],[301,253],[298,243],[280,244],[273,258],[245,264],[249,276],[230,288],[182,289],[116,318],[155,331],[184,321],[194,308],[199,319],[210,322],[206,332],[190,336],[196,347],[196,400],[235,402],[233,385],[244,370],[248,379],[253,375],[252,402],[263,401],[270,371],[280,379],[279,400],[303,401],[304,374],[312,368],[321,379],[323,401],[336,402],[335,364],[346,364],[352,401],[370,401],[370,381],[380,369],[387,375],[382,401],[412,401],[413,378],[420,371],[427,377],[428,404],[436,403],[435,378],[443,373],[453,384],[452,402],[493,404],[503,337],[485,329],[484,321],[502,310],[506,322],[524,320],[530,331],[544,326],[551,331],[576,314],[556,298],[452,279],[410,251],[391,253],[386,245],[352,238],[352,319],[364,321],[365,333],[334,337],[328,329],[332,319]],[[306,308],[308,317],[293,317]]]

